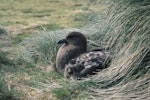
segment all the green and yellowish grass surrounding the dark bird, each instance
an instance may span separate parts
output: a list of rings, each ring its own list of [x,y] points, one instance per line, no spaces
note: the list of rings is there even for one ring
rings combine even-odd
[[[150,98],[149,0],[2,2],[0,99]],[[109,67],[80,81],[54,67],[57,40],[74,30],[87,36],[89,49],[111,47]]]

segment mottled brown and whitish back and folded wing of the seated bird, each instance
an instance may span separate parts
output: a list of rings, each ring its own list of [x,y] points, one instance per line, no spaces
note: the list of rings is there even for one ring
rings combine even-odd
[[[66,66],[66,69],[71,68],[71,76],[74,77],[92,75],[95,74],[95,72],[97,72],[99,69],[104,69],[104,63],[108,56],[109,53],[105,51],[86,52],[70,60],[69,64]],[[64,74],[65,76],[69,75],[67,70],[65,70]]]

